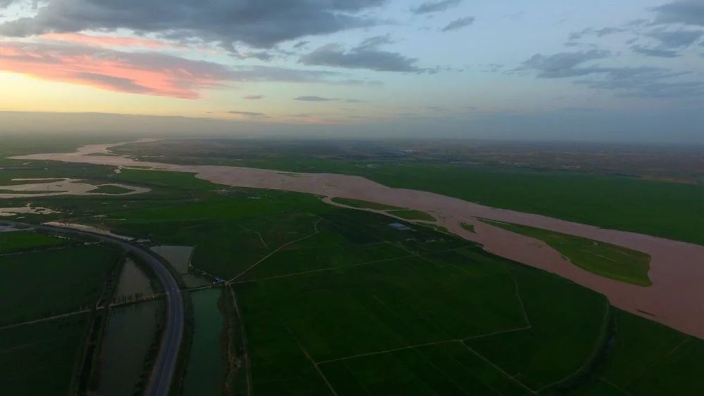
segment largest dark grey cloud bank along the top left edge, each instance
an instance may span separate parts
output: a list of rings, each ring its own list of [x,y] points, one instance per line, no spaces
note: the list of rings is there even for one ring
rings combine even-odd
[[[385,1],[52,0],[34,16],[1,24],[0,34],[128,29],[172,39],[196,37],[230,49],[234,42],[270,48],[307,35],[374,25],[359,14]]]

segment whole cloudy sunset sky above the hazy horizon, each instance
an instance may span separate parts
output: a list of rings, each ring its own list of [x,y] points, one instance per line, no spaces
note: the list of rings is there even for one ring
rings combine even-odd
[[[0,0],[0,133],[704,143],[704,0]]]

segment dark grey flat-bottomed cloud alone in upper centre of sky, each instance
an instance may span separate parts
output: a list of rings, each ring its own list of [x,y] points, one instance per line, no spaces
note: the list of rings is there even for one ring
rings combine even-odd
[[[422,72],[415,66],[416,58],[400,53],[381,51],[369,46],[357,46],[345,51],[339,44],[327,44],[301,56],[304,65],[330,66],[333,68],[369,69],[382,72]]]

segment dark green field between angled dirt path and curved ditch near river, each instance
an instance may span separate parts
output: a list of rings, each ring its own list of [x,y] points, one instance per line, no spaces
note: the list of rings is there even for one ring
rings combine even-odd
[[[529,328],[465,343],[528,388],[549,389],[589,365],[603,347],[610,305],[558,276],[519,266],[510,272]]]

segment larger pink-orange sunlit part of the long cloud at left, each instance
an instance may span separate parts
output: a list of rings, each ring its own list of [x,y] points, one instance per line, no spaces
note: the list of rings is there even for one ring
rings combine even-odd
[[[223,65],[163,53],[130,53],[94,46],[0,41],[0,70],[108,91],[199,98],[199,91],[232,79]]]

